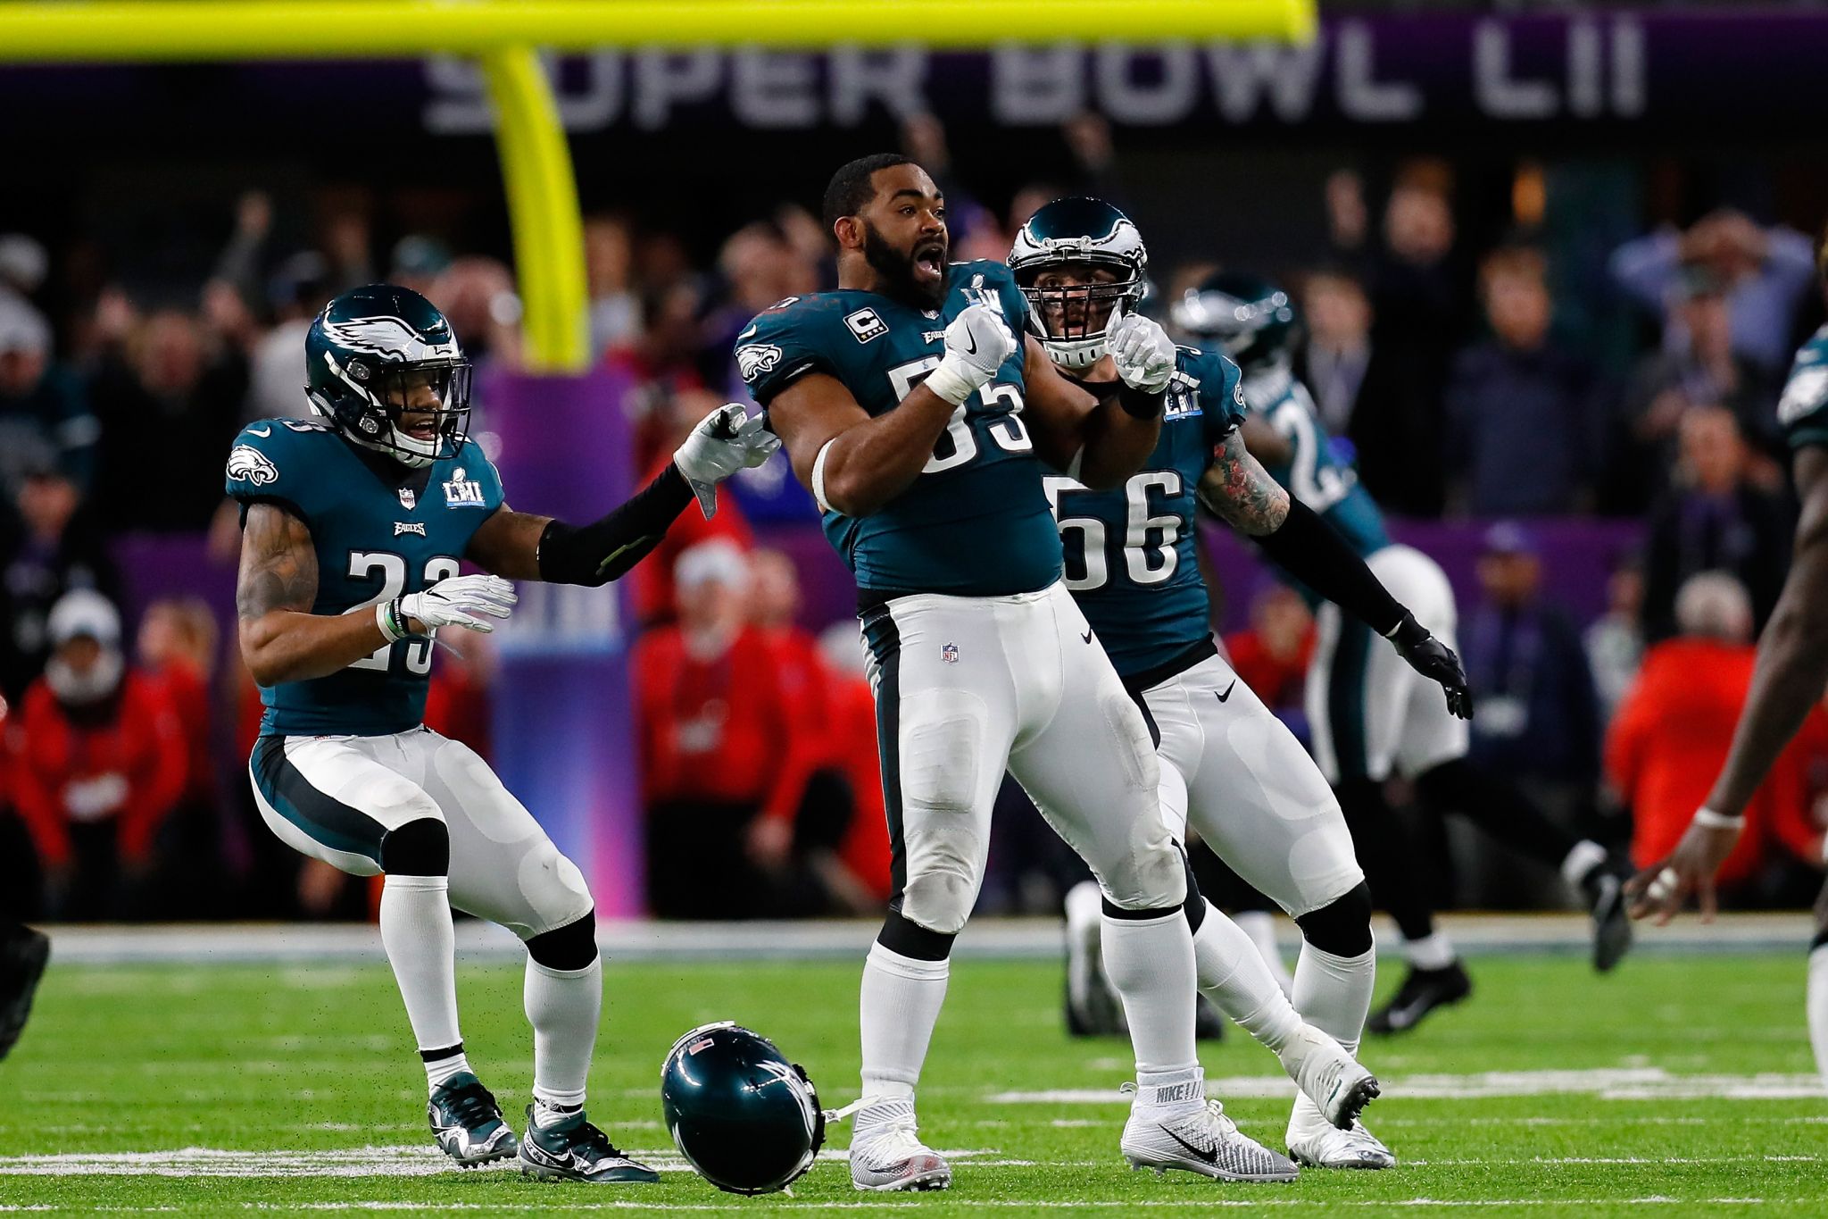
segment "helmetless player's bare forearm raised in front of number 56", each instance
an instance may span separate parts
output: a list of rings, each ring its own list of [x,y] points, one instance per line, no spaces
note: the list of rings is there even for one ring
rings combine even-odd
[[[1119,397],[1099,402],[1060,376],[1047,351],[1026,338],[1022,376],[1035,451],[1044,462],[1095,492],[1122,484],[1142,468],[1161,439],[1161,409],[1132,413]]]

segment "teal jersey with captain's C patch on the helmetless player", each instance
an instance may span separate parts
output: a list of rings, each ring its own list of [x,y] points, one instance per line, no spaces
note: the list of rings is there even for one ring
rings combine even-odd
[[[952,318],[972,303],[1000,309],[1016,353],[952,413],[912,486],[863,517],[826,512],[824,535],[865,592],[1046,588],[1060,578],[1060,537],[1022,422],[1027,300],[1002,263],[952,263],[947,276],[936,311],[854,289],[790,296],[737,336],[737,367],[764,409],[797,378],[824,373],[865,411],[883,415],[940,364]]]

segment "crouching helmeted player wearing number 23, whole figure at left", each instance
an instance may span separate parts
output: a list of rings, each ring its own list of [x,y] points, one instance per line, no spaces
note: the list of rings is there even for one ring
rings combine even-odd
[[[267,704],[249,762],[280,839],[384,875],[380,941],[426,1067],[439,1148],[464,1166],[519,1155],[528,1175],[653,1182],[585,1120],[603,1002],[596,917],[578,868],[488,764],[420,720],[433,641],[492,631],[510,579],[601,585],[653,550],[718,479],[777,446],[740,406],[713,411],[645,490],[594,525],[514,512],[468,442],[470,366],[450,322],[402,287],[344,292],[305,336],[316,420],[241,429],[241,660]],[[468,559],[486,574],[459,576]],[[464,1058],[452,906],[526,943],[534,1104],[515,1139]]]

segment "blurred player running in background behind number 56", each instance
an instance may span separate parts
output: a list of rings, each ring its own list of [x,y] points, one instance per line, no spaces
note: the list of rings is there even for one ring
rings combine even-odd
[[[1342,461],[1307,387],[1294,376],[1300,318],[1289,294],[1250,274],[1217,272],[1174,303],[1175,327],[1225,347],[1243,367],[1243,424],[1250,453],[1289,493],[1325,517],[1417,618],[1450,645],[1459,612],[1446,574],[1420,550],[1391,543],[1384,514]],[[1461,813],[1514,850],[1557,868],[1594,916],[1594,967],[1612,969],[1631,947],[1627,864],[1601,844],[1557,826],[1515,784],[1466,757],[1466,724],[1448,715],[1428,682],[1336,605],[1320,605],[1320,638],[1307,671],[1314,757],[1345,810],[1373,899],[1404,938],[1409,970],[1371,1014],[1373,1033],[1413,1029],[1428,1012],[1472,992],[1453,945],[1437,930],[1426,888],[1411,877],[1420,850],[1384,797],[1393,773],[1415,784],[1435,813]]]

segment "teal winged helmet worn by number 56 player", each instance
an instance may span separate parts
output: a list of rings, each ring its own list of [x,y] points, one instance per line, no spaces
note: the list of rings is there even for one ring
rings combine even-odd
[[[1148,249],[1135,223],[1102,199],[1055,199],[1016,232],[1009,269],[1029,298],[1029,325],[1055,366],[1079,371],[1104,358],[1117,307],[1133,311],[1148,291]],[[1110,280],[1095,281],[1104,270]],[[1038,281],[1046,272],[1073,283]]]

